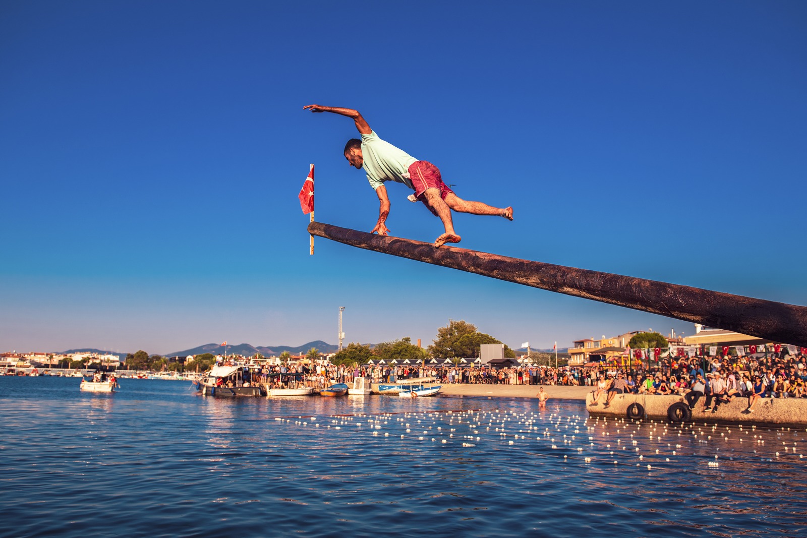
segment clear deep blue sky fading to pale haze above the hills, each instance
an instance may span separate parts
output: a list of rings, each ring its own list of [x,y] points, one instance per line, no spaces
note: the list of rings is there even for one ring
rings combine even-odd
[[[0,4],[0,350],[690,323],[316,240],[378,199],[319,103],[512,223],[464,248],[807,304],[805,2]],[[441,224],[400,185],[393,235]]]

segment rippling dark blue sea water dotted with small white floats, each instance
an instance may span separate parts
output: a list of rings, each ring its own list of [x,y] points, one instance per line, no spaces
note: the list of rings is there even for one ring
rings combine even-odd
[[[78,382],[0,377],[0,536],[807,536],[804,430]]]

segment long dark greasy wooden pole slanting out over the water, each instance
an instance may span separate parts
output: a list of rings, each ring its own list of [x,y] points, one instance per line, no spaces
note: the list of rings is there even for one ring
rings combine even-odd
[[[324,223],[311,223],[308,231],[353,247],[807,347],[807,307],[465,248],[434,248],[431,243]]]

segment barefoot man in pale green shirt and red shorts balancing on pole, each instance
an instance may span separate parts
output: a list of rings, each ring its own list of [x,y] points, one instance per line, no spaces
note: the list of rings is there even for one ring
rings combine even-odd
[[[390,213],[390,199],[387,197],[384,181],[398,181],[415,190],[415,194],[410,194],[409,199],[412,202],[420,200],[443,221],[445,233],[434,241],[435,247],[460,241],[460,236],[454,233],[452,209],[473,215],[499,215],[512,220],[512,207],[501,209],[483,202],[469,202],[459,198],[443,183],[437,166],[427,161],[418,161],[407,152],[378,138],[358,111],[320,105],[306,105],[303,106],[303,110],[332,112],[353,118],[356,128],[362,133],[362,140],[356,138],[348,140],[345,145],[345,159],[356,169],[364,167],[367,180],[370,181],[370,186],[375,190],[375,194],[378,194],[378,201],[381,202],[378,223],[370,233],[378,231],[379,236],[386,236],[389,233],[385,223]]]

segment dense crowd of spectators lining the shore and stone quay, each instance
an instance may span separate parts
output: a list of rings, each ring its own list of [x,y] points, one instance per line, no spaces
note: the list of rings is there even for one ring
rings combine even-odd
[[[487,366],[444,365],[278,365],[258,375],[266,382],[271,373],[299,373],[295,385],[323,387],[331,382],[352,382],[366,377],[374,383],[399,382],[412,377],[433,377],[439,383],[490,385],[592,386],[595,404],[604,406],[613,394],[680,394],[694,407],[705,398],[705,409],[717,411],[722,402],[749,398],[753,411],[759,398],[807,398],[807,357],[780,354],[722,357],[666,357],[656,362],[593,366]]]

